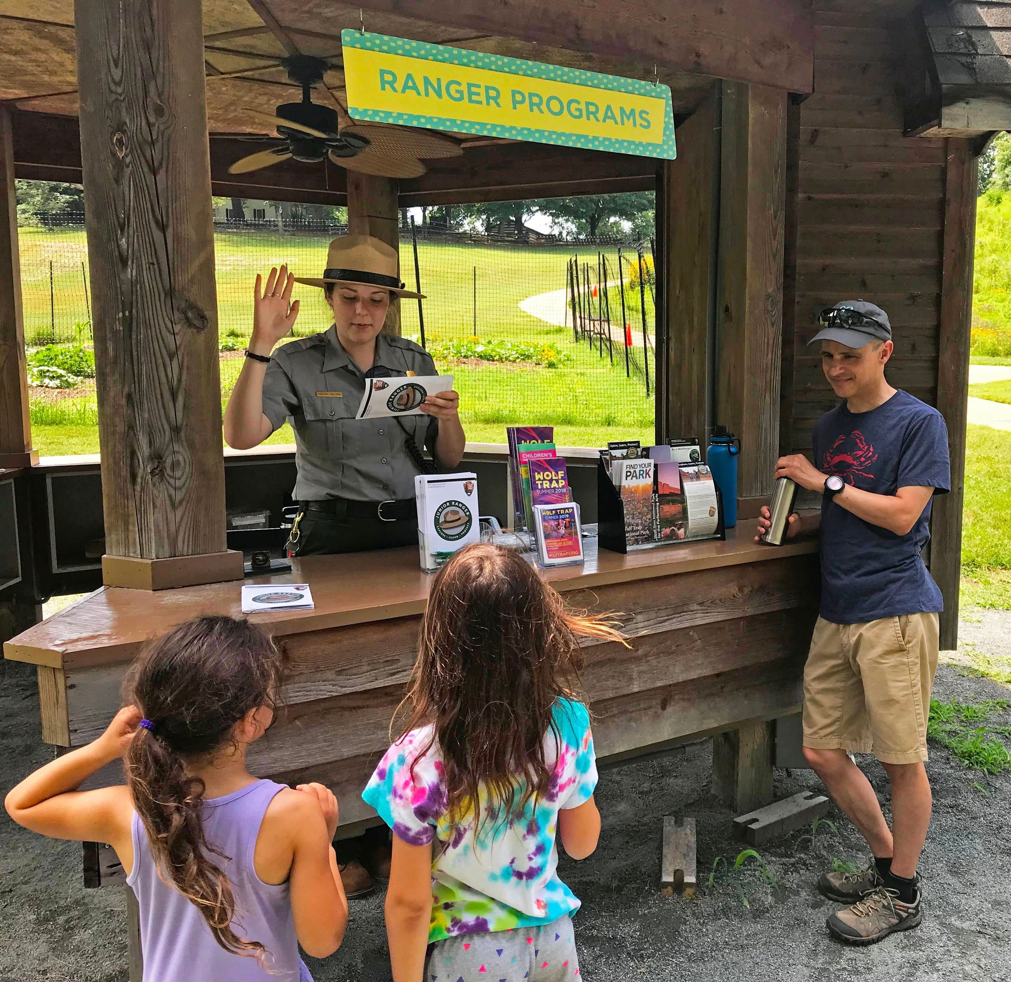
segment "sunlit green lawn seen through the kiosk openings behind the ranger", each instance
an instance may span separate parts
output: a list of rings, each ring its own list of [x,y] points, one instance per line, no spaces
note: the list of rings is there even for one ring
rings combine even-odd
[[[29,345],[48,340],[54,321],[60,336],[69,340],[72,325],[87,316],[81,271],[81,263],[86,262],[84,232],[22,228],[19,234]],[[248,337],[257,272],[266,274],[272,265],[288,263],[297,274],[318,275],[326,262],[326,244],[327,238],[319,235],[282,235],[262,229],[216,232],[219,333],[241,340]],[[608,253],[609,263],[615,268],[617,250]],[[562,289],[566,263],[572,255],[568,247],[419,244],[422,292],[428,298],[424,301],[426,336],[430,342],[471,336],[476,329],[484,340],[546,342],[569,356],[566,364],[553,369],[497,363],[440,364],[441,372],[451,372],[455,377],[455,387],[461,394],[461,418],[469,439],[504,443],[507,425],[543,424],[556,427],[556,441],[562,446],[603,447],[608,439],[629,438],[652,441],[652,396],[647,397],[641,377],[626,378],[621,350],[616,348],[612,365],[607,347],[602,358],[585,343],[576,343],[571,327],[549,324],[519,307],[520,301],[529,296]],[[587,254],[580,262],[591,262],[595,271],[595,252]],[[413,286],[409,239],[401,243],[401,268]],[[296,284],[293,296],[301,300],[296,334],[325,330],[330,310],[321,291]],[[620,297],[615,293],[613,299]],[[626,306],[635,323],[641,323],[637,288],[628,291]],[[646,311],[652,330],[648,291]],[[403,334],[417,336],[417,302],[403,301],[400,312]],[[241,360],[221,363],[221,392],[225,398],[241,366]],[[651,376],[652,369],[651,364]],[[36,405],[36,446],[47,455],[96,453],[97,433],[88,432],[89,424],[94,425],[94,413],[93,397],[59,409]]]

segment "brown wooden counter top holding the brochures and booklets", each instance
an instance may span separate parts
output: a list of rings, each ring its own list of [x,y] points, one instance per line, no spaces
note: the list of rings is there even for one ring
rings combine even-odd
[[[706,539],[626,556],[598,552],[596,541],[585,539],[584,566],[545,570],[542,575],[556,590],[566,592],[818,551],[817,538],[768,547],[756,544],[753,535],[749,521],[728,529],[726,542]],[[275,636],[283,636],[420,614],[428,602],[432,575],[419,569],[417,547],[404,547],[310,556],[294,560],[290,573],[245,581],[156,592],[102,587],[7,642],[4,657],[64,669],[128,660],[147,641],[197,614],[241,616],[243,582],[309,584],[314,609],[250,615],[251,620],[270,624]]]

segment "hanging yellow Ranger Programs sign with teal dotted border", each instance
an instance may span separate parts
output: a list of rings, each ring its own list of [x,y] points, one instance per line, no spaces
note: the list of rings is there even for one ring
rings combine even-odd
[[[675,156],[666,86],[356,30],[342,41],[355,119]]]

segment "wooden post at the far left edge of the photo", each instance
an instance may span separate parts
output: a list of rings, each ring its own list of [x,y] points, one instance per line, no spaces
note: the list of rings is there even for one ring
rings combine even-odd
[[[31,449],[28,418],[14,148],[10,110],[0,105],[0,468],[37,463],[38,452]]]

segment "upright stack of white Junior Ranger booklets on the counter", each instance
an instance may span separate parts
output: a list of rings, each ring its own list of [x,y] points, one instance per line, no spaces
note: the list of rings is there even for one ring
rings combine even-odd
[[[419,474],[415,493],[423,570],[431,573],[457,550],[481,541],[476,474]]]

